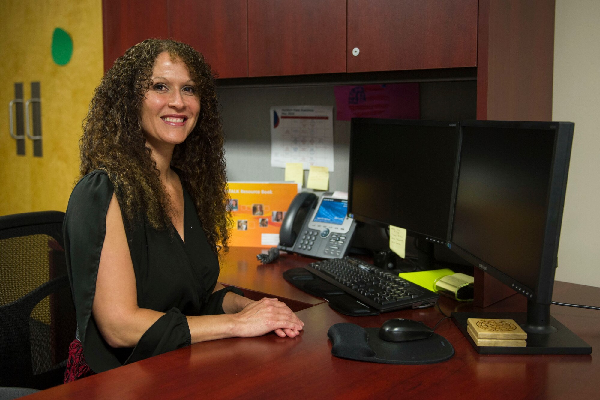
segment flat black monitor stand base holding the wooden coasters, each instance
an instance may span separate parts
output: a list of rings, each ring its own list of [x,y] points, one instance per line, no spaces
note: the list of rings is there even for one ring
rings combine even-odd
[[[590,354],[592,347],[550,315],[550,305],[527,302],[527,312],[452,312],[452,320],[480,354]],[[527,332],[526,347],[478,346],[467,332],[467,319],[515,320]]]

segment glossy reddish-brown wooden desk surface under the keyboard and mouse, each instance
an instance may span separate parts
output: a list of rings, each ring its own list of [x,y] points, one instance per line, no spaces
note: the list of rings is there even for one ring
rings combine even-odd
[[[304,332],[298,338],[274,334],[202,342],[151,359],[31,395],[31,399],[180,399],[180,398],[435,398],[590,399],[598,398],[600,362],[587,356],[508,356],[476,353],[451,320],[436,330],[455,348],[452,359],[432,365],[386,365],[338,359],[331,355],[329,327],[352,322],[364,327],[403,317],[434,326],[437,308],[404,310],[376,317],[347,317],[321,299],[308,296],[281,278],[308,258],[286,255],[262,266],[258,249],[232,249],[220,280],[242,288],[304,304],[298,316]],[[600,288],[556,282],[554,299],[597,304]],[[485,311],[524,311],[524,297],[511,296]],[[442,297],[440,308],[481,311],[470,303]],[[597,350],[600,313],[553,306],[554,317]]]

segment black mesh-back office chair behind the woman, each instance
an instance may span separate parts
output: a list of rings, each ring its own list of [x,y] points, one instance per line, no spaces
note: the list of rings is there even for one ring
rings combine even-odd
[[[64,212],[0,216],[0,386],[62,383],[76,329]]]

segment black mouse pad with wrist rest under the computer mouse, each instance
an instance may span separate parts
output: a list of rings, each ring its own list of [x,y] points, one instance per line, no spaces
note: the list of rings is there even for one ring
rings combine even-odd
[[[384,364],[433,364],[454,356],[454,347],[443,336],[432,333],[427,339],[386,342],[379,328],[363,328],[341,322],[327,332],[336,357]]]

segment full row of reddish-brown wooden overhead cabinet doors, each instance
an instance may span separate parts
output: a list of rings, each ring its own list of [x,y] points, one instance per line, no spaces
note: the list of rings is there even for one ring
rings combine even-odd
[[[477,17],[477,0],[103,0],[104,66],[172,37],[221,78],[475,67]]]

